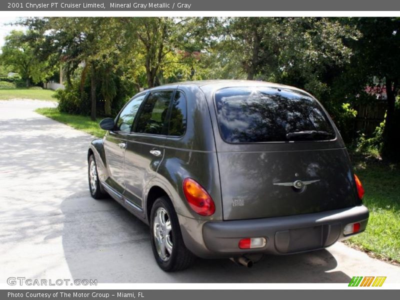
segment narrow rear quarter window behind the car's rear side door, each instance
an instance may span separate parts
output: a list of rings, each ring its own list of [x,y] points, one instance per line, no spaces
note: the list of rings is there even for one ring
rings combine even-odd
[[[186,131],[186,98],[177,90],[172,103],[168,135],[181,136]]]

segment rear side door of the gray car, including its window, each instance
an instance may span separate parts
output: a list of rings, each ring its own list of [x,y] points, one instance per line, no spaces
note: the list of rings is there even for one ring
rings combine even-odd
[[[145,183],[156,175],[164,155],[167,116],[173,90],[151,91],[143,103],[133,132],[127,138],[124,158],[126,203],[142,208]]]

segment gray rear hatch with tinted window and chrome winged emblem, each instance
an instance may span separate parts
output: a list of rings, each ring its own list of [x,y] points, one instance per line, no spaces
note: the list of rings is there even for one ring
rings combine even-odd
[[[224,219],[360,203],[347,151],[314,98],[291,89],[228,87],[214,101]]]

